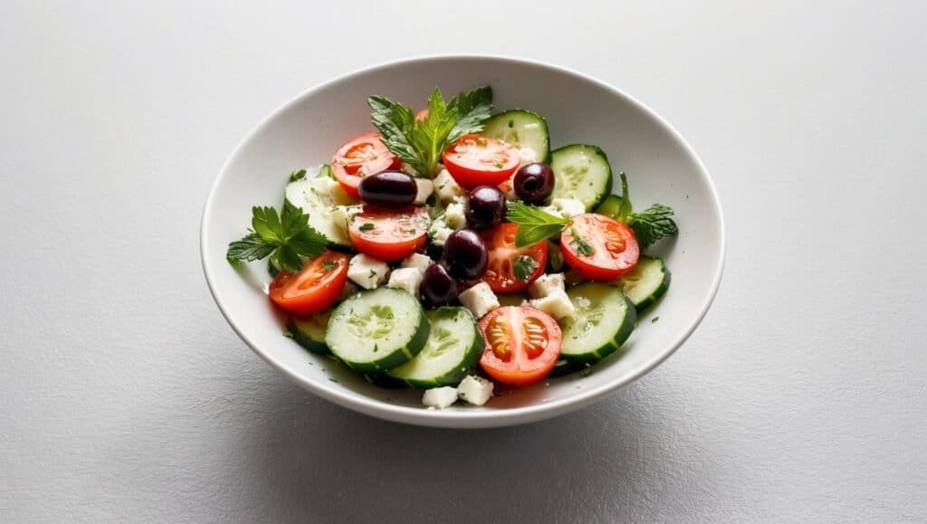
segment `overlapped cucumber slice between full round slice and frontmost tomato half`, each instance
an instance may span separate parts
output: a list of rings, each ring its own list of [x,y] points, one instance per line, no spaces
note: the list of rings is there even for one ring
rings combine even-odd
[[[413,388],[456,386],[473,371],[486,342],[473,313],[461,307],[443,307],[425,315],[431,332],[425,349],[411,361],[387,372]]]

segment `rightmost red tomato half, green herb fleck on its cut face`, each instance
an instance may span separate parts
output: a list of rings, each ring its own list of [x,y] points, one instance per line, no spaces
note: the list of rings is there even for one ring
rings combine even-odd
[[[574,233],[587,243],[592,254],[583,253]],[[573,217],[570,227],[560,234],[564,261],[587,280],[610,281],[628,273],[641,255],[637,236],[627,224],[598,214]]]

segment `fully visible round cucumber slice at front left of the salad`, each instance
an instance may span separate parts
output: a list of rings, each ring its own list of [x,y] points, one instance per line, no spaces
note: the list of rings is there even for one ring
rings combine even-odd
[[[428,339],[428,318],[408,291],[376,288],[351,295],[332,312],[325,345],[360,373],[377,373],[413,359]]]

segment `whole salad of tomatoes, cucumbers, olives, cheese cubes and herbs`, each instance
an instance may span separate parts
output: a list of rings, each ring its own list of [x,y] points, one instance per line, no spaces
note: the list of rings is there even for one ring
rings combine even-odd
[[[625,173],[613,195],[599,147],[551,150],[544,118],[493,114],[489,86],[436,88],[417,113],[368,104],[375,132],[291,173],[227,252],[269,259],[269,298],[307,350],[429,407],[483,405],[499,384],[588,372],[666,293],[642,251],[677,235],[673,211],[634,211]]]

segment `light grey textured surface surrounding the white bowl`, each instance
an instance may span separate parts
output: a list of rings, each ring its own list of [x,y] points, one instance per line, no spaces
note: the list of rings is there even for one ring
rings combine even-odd
[[[302,4],[0,5],[0,521],[927,519],[922,3]],[[222,160],[304,88],[424,52],[588,72],[700,153],[727,272],[654,373],[412,428],[224,324],[197,256]]]

